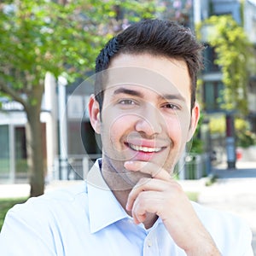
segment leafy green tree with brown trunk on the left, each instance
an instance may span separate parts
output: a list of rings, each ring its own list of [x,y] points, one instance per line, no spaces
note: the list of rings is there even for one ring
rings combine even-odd
[[[0,3],[0,92],[20,102],[26,112],[31,196],[44,193],[40,113],[45,74],[66,76],[69,82],[83,76],[125,20],[150,18],[156,11],[154,1],[55,2]]]

